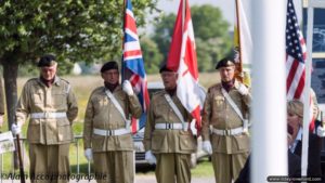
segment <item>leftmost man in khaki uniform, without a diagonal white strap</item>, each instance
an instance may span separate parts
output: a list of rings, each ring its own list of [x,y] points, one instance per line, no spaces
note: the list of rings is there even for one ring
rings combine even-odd
[[[38,63],[40,77],[28,80],[16,107],[14,134],[30,117],[27,129],[31,182],[68,182],[69,145],[78,106],[68,81],[56,76],[53,55]]]

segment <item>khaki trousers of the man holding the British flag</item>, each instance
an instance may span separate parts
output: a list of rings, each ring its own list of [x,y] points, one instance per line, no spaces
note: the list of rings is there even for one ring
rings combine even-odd
[[[93,167],[99,183],[133,183],[133,152],[94,152]]]

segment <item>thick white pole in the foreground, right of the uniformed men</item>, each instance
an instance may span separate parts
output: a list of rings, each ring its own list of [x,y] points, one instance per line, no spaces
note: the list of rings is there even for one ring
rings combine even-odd
[[[274,14],[274,10],[277,13]],[[259,0],[252,13],[252,183],[287,175],[286,2]]]

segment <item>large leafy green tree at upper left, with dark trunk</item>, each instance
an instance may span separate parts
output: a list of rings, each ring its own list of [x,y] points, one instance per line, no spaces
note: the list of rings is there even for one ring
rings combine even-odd
[[[145,9],[156,1],[136,0],[133,13],[144,24]],[[60,69],[74,62],[119,58],[123,0],[3,0],[0,2],[0,64],[3,66],[9,127],[17,102],[18,66],[46,53],[56,55]]]

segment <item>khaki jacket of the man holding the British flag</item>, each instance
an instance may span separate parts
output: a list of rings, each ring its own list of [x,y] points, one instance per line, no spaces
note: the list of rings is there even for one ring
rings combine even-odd
[[[92,148],[93,152],[133,151],[131,132],[130,134],[110,136],[93,134],[94,128],[101,130],[126,128],[126,121],[106,95],[105,90],[107,90],[105,87],[96,88],[89,97],[83,127],[84,148]],[[135,94],[129,96],[118,86],[114,90],[113,95],[128,119],[131,115],[135,118],[141,116],[142,108]]]

